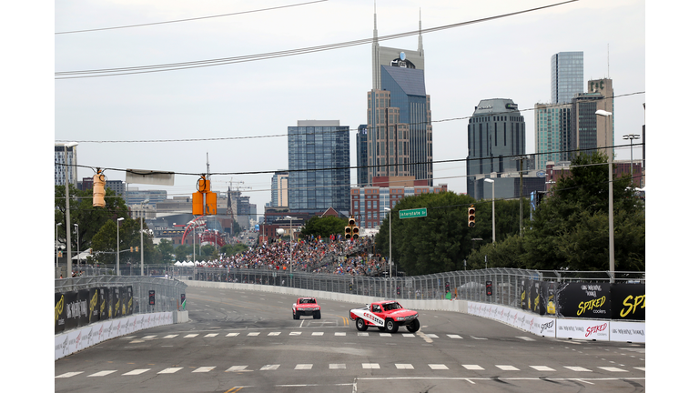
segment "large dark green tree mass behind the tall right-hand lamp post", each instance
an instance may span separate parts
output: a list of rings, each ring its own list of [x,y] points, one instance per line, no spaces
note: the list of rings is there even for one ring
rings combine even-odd
[[[609,270],[609,169],[602,153],[582,154],[534,212],[522,260],[528,268]],[[645,214],[630,176],[613,181],[614,269],[645,269]]]

